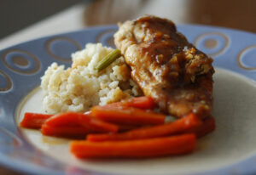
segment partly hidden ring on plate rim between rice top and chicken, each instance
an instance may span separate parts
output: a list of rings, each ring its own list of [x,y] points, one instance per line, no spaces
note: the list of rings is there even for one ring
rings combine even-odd
[[[113,42],[113,34],[117,30],[111,29],[107,31],[102,31],[97,37],[96,42],[102,42],[103,45],[116,48]]]

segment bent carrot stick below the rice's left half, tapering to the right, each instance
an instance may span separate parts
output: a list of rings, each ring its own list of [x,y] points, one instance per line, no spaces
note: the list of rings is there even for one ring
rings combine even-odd
[[[119,129],[117,125],[92,117],[90,112],[86,112],[84,114],[75,112],[61,113],[59,115],[50,117],[44,122],[44,124],[51,127],[81,126],[89,129],[90,131],[105,133],[116,133]]]

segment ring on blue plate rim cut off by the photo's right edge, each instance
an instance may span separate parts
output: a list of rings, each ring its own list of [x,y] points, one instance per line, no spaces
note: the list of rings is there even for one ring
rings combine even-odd
[[[243,48],[238,54],[237,63],[244,70],[256,70],[256,44]]]

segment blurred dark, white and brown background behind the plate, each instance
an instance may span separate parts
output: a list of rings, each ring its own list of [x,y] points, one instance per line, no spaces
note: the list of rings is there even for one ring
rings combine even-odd
[[[0,49],[18,42],[143,14],[177,24],[216,25],[256,32],[256,0],[1,0]],[[0,174],[20,174],[0,167]]]

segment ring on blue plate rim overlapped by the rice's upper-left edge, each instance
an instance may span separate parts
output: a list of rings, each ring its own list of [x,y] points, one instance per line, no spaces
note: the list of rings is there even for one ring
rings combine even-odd
[[[54,59],[69,62],[71,54],[80,50],[79,42],[68,37],[53,37],[45,43],[47,53]]]

